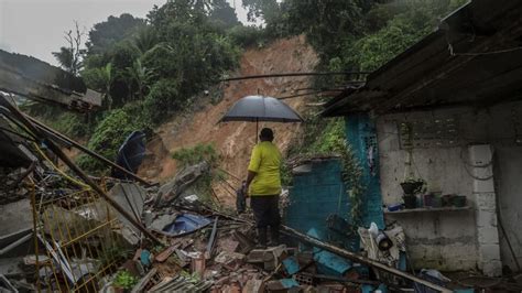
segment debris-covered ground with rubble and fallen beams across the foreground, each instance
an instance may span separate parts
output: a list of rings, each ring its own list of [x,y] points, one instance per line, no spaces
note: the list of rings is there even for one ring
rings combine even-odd
[[[521,290],[516,275],[410,272],[405,231],[396,225],[354,230],[341,217],[328,217],[324,226],[356,236],[358,243],[339,245],[294,225],[282,226],[278,246],[260,248],[248,207],[238,213],[204,194],[215,165],[189,165],[160,186],[97,158],[126,180],[93,177],[56,142],[76,145],[74,141],[0,101],[26,135],[11,150],[20,151],[19,164],[0,174],[2,292]],[[57,161],[68,171],[58,169]],[[283,213],[296,204],[287,192],[280,200]]]

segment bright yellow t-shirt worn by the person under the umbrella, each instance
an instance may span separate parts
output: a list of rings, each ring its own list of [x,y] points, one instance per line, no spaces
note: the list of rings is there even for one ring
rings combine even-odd
[[[270,141],[258,143],[252,150],[249,171],[255,172],[250,184],[251,196],[281,194],[281,152]]]

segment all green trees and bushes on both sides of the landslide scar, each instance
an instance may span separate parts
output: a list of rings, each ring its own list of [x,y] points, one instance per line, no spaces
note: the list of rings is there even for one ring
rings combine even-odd
[[[305,34],[319,55],[317,70],[373,70],[463,2],[242,0],[248,17],[263,21],[262,26],[244,26],[225,0],[171,0],[152,8],[144,20],[121,14],[96,24],[87,34],[86,50],[78,46],[83,34],[76,28],[76,34],[67,36],[69,46],[54,53],[65,69],[105,95],[100,111],[80,116],[30,108],[58,130],[87,138],[90,149],[113,160],[131,131],[150,132],[236,68],[241,48]],[[314,86],[331,88],[361,78],[317,78]],[[341,120],[309,117],[302,140],[307,152],[339,145]],[[89,172],[102,171],[89,158],[79,158],[79,163]]]

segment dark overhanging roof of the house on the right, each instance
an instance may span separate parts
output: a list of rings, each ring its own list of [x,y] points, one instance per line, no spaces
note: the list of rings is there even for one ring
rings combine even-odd
[[[448,106],[488,107],[522,98],[522,2],[472,1],[436,31],[342,91],[324,116],[382,115]]]

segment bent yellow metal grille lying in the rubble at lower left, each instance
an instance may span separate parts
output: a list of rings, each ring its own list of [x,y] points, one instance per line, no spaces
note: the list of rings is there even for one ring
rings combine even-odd
[[[37,289],[99,292],[131,252],[116,210],[95,192],[32,193]],[[46,256],[40,260],[40,256]]]

